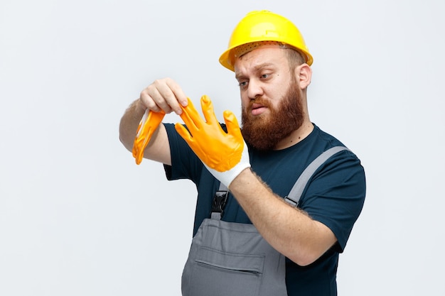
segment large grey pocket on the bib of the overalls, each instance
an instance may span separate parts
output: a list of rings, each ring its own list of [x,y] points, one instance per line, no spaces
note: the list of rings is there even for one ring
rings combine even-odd
[[[264,255],[219,251],[200,246],[188,295],[254,296],[259,293]]]

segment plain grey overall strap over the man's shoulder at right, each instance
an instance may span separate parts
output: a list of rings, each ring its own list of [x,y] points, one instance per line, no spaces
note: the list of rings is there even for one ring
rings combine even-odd
[[[304,187],[306,187],[306,184],[307,182],[309,182],[309,179],[312,177],[313,173],[332,155],[343,150],[349,149],[343,146],[335,146],[324,151],[323,153],[321,153],[321,155],[318,155],[318,157],[314,159],[312,163],[310,163],[307,168],[301,173],[298,180],[296,180],[294,187],[292,187],[289,194],[284,197],[284,200],[294,207],[298,206],[301,194],[303,194]]]

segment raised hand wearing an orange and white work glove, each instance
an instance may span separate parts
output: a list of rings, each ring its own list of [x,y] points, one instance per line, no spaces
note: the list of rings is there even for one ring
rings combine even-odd
[[[200,117],[190,99],[183,107],[181,119],[187,129],[176,124],[179,135],[188,143],[205,167],[227,188],[242,170],[250,168],[247,145],[242,138],[238,121],[231,111],[224,112],[227,133],[221,128],[207,96],[201,97],[205,121]]]

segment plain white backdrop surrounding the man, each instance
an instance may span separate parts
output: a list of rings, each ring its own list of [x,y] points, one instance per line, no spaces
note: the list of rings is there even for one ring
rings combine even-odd
[[[2,0],[0,295],[180,295],[194,185],[136,165],[119,119],[167,76],[239,114],[218,57],[256,9],[299,27],[311,120],[365,166],[339,295],[445,295],[439,0]]]

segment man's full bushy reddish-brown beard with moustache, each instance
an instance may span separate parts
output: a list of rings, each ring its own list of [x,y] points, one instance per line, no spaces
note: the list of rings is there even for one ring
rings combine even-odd
[[[304,122],[301,91],[294,79],[277,107],[267,99],[258,97],[242,108],[242,136],[246,143],[258,150],[272,150],[279,141],[289,136]],[[269,109],[269,114],[252,115],[252,104],[258,103]]]

